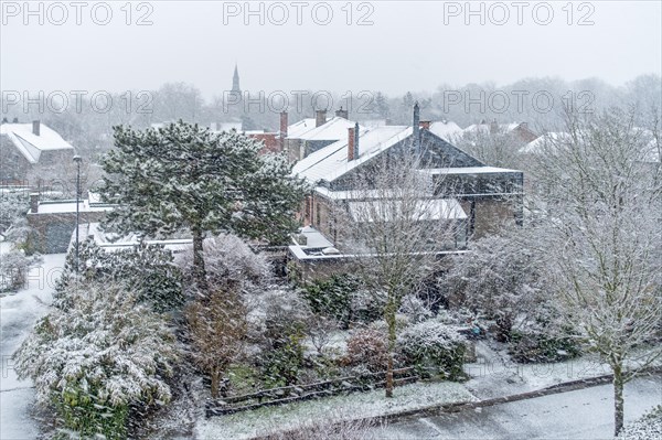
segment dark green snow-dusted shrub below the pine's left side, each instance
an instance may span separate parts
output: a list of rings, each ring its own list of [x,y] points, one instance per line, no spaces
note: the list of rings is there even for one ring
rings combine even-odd
[[[130,249],[105,251],[93,239],[79,244],[79,272],[86,280],[121,281],[157,312],[171,311],[184,302],[180,269],[172,253],[160,245],[140,245]],[[67,255],[58,289],[76,278],[75,249]]]

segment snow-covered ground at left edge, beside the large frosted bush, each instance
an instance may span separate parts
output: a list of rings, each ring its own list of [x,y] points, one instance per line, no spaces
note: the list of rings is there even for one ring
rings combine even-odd
[[[0,245],[1,253],[9,250],[7,243]],[[25,289],[0,298],[0,439],[34,439],[39,434],[30,417],[34,406],[32,383],[17,378],[11,355],[46,313],[64,259],[65,254],[43,256],[43,262],[30,270]]]

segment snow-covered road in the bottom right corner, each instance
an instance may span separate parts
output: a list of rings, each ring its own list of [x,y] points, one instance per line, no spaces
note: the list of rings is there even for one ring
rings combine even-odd
[[[662,377],[626,386],[626,423],[662,404]],[[493,407],[392,422],[378,439],[612,439],[611,385],[513,401]]]

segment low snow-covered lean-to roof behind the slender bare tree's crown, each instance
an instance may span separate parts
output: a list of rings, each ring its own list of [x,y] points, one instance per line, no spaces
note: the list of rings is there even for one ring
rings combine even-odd
[[[401,200],[373,200],[349,202],[350,215],[355,222],[374,222],[374,215],[381,221],[388,222],[393,215],[403,211]],[[460,203],[455,198],[419,200],[413,212],[414,221],[462,219],[467,214]],[[405,210],[409,210],[405,207]]]

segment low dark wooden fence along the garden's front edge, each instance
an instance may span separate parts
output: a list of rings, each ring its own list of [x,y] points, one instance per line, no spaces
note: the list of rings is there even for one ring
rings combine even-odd
[[[394,385],[412,384],[420,377],[414,367],[396,368],[393,371]],[[366,391],[382,388],[386,384],[386,372],[366,373],[359,376],[339,377],[331,380],[309,385],[292,385],[280,388],[263,389],[257,393],[242,396],[231,396],[223,399],[210,400],[205,405],[206,417],[222,416],[233,412],[257,409],[266,406],[276,406],[317,399],[320,397],[337,396],[355,391]]]

